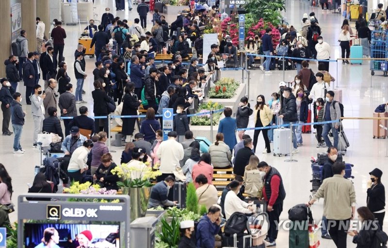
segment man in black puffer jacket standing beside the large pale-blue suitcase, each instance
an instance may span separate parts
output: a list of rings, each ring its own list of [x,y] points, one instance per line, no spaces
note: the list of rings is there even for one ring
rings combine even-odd
[[[280,111],[281,115],[279,118],[283,119],[283,124],[290,124],[298,122],[298,113],[296,112],[296,98],[291,93],[291,88],[287,87],[283,89],[283,102],[282,109]],[[296,128],[297,126],[292,126],[292,144],[294,146],[292,153],[298,152],[298,146],[296,144]]]

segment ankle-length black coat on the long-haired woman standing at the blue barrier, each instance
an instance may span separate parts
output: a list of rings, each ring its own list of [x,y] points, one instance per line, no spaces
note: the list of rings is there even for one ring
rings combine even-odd
[[[122,116],[136,116],[137,108],[140,106],[140,102],[137,99],[136,94],[129,93],[124,95],[123,99],[123,110],[121,111]],[[122,118],[123,119],[123,130],[122,135],[132,135],[136,123],[136,118]]]

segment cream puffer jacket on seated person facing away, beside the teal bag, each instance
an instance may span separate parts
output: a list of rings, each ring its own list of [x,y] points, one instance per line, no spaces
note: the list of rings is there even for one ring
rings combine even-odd
[[[229,146],[223,141],[218,141],[218,146],[215,142],[209,146],[211,163],[214,167],[224,168],[232,163],[232,153]]]

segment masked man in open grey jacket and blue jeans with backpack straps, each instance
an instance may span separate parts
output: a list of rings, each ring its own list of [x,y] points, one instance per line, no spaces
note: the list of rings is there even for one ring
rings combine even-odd
[[[336,120],[335,123],[325,123],[323,124],[322,136],[323,140],[326,143],[326,146],[334,146],[338,148],[338,132],[339,132],[339,118],[341,117],[341,109],[339,107],[339,102],[334,101],[334,92],[329,90],[326,93],[326,102],[323,108],[323,120],[331,121]],[[332,131],[334,138],[334,145],[331,144],[331,141],[328,137],[329,131]]]

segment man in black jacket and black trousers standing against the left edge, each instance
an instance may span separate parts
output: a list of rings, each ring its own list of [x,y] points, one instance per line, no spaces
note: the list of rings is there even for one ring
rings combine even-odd
[[[17,71],[16,75],[18,76]],[[15,93],[15,89],[11,86],[11,83],[8,82],[6,78],[1,78],[0,83],[0,102],[1,111],[3,112],[2,133],[3,135],[9,136],[13,133],[9,131],[9,121],[11,119],[11,102],[14,100],[12,96]]]

